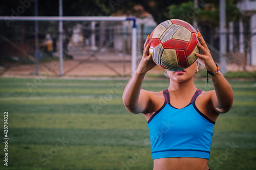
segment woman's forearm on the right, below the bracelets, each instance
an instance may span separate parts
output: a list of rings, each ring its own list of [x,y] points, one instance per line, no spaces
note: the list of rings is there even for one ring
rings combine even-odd
[[[211,76],[211,79],[218,101],[215,104],[216,109],[220,112],[227,112],[233,103],[233,90],[221,73]]]

